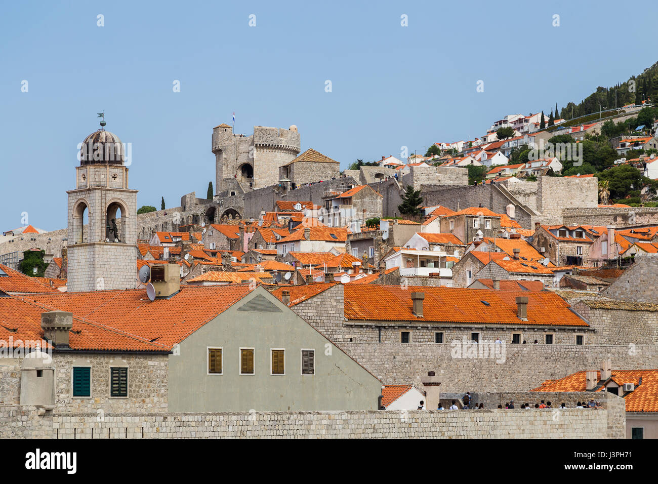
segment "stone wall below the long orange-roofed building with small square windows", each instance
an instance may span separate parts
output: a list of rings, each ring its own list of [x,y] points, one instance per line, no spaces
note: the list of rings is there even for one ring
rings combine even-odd
[[[599,369],[606,358],[611,358],[613,370],[658,368],[658,347],[649,344],[506,344],[504,363],[496,363],[496,358],[453,358],[450,344],[345,342],[340,346],[386,385],[420,386],[421,375],[432,370],[442,377],[441,390],[447,392],[526,391],[545,380]]]

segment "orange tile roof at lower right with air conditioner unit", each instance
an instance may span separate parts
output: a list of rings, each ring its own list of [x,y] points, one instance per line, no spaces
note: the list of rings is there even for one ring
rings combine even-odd
[[[559,380],[546,380],[532,392],[584,392],[587,389],[586,371],[577,371]],[[642,377],[642,384],[638,386]],[[597,383],[600,383],[601,372],[596,371]],[[634,383],[635,390],[626,394],[626,412],[658,412],[658,369],[613,370],[612,381],[623,387],[624,383]],[[602,392],[601,386],[592,392]],[[620,396],[624,393],[620,390]]]

